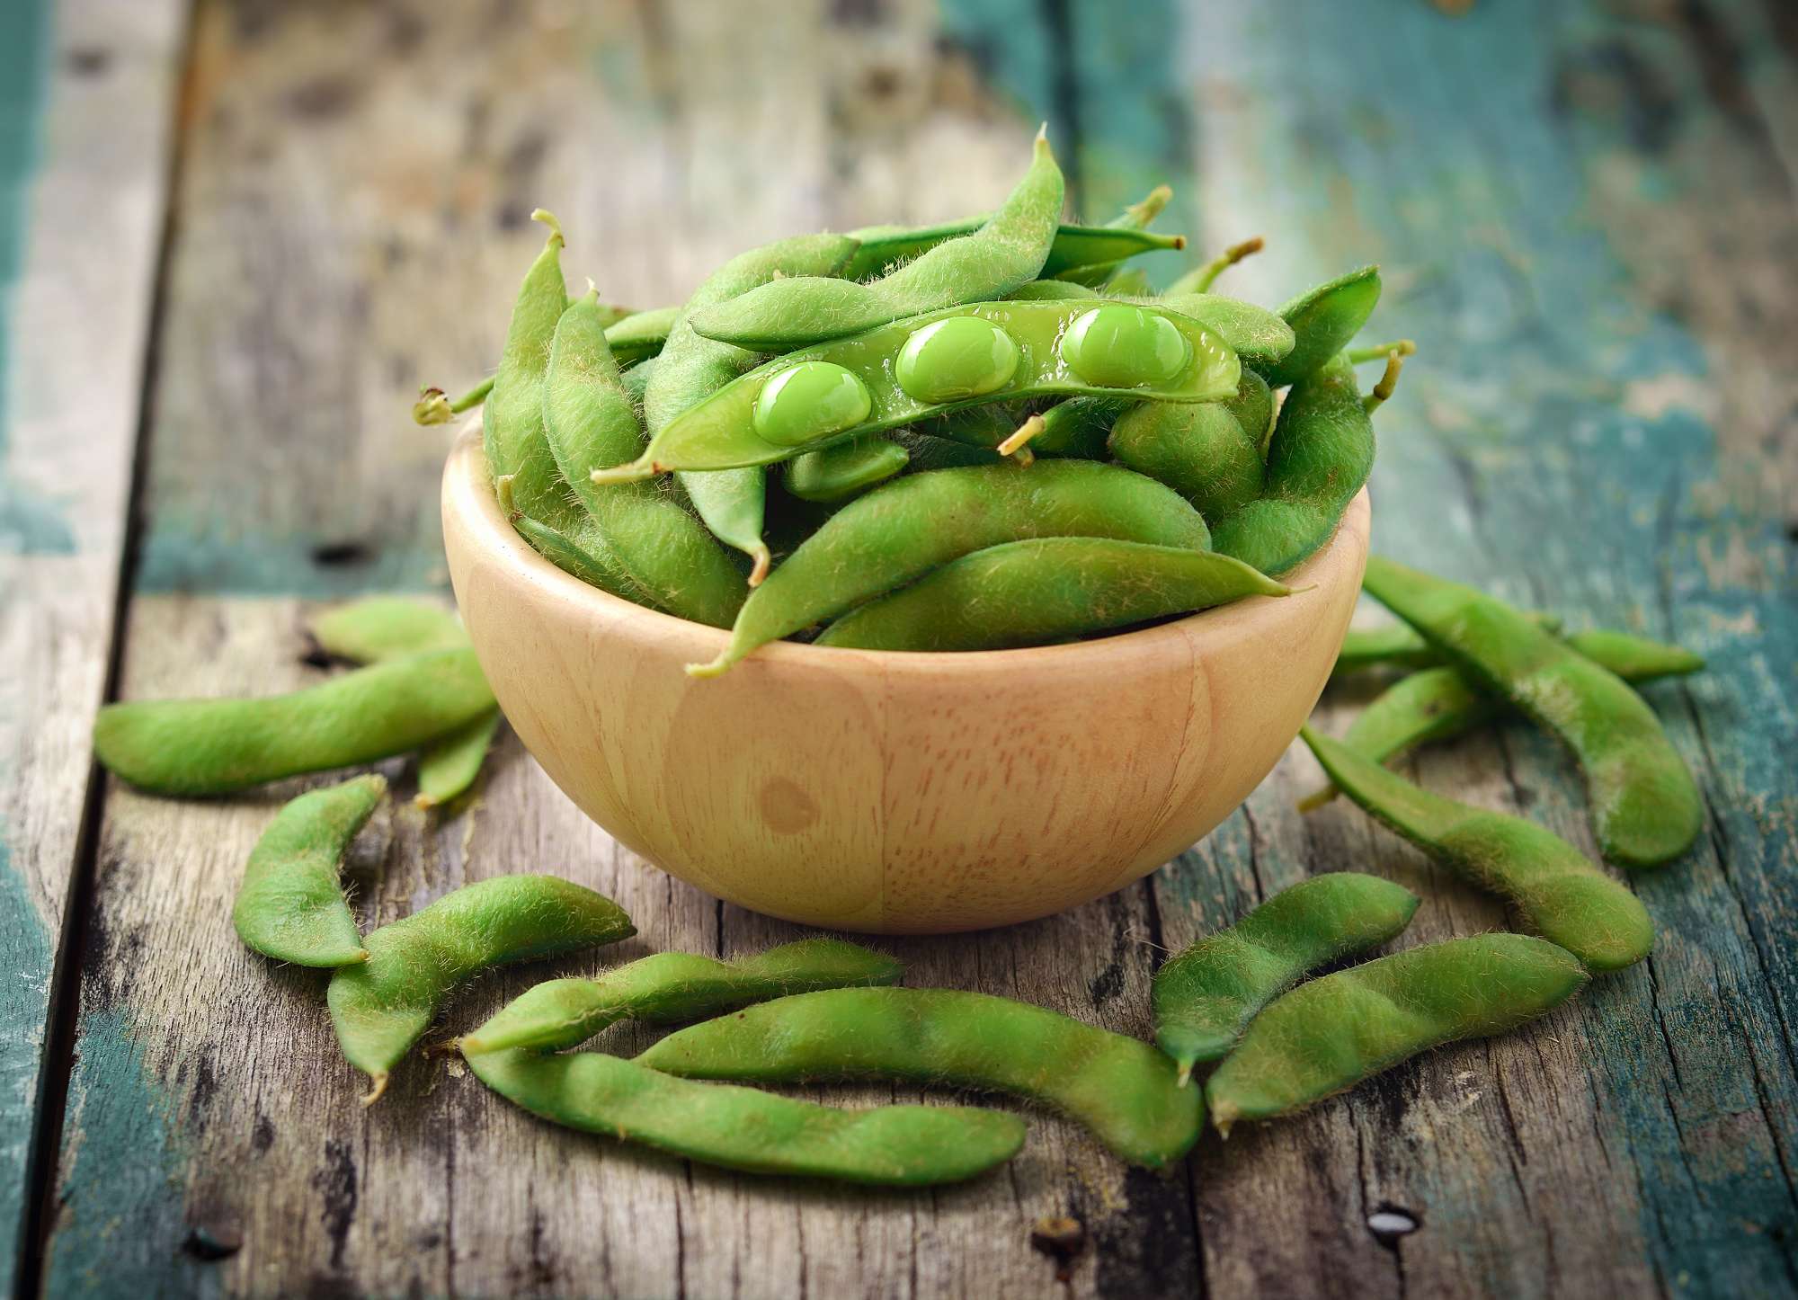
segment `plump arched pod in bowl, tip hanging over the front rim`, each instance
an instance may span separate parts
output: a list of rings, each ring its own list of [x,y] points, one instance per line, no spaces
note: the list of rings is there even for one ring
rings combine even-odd
[[[714,676],[789,637],[973,550],[1027,538],[1084,536],[1205,550],[1205,520],[1174,491],[1091,460],[976,466],[908,475],[856,498],[744,601]]]

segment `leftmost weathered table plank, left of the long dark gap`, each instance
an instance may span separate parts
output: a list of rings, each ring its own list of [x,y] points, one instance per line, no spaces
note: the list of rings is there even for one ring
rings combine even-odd
[[[0,1287],[111,653],[183,5],[0,9]],[[50,1082],[59,1090],[59,1082]]]

